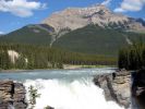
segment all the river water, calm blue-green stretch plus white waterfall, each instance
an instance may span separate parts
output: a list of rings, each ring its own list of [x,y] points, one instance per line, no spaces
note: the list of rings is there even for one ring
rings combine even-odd
[[[112,73],[113,69],[46,70],[11,73],[11,80],[21,81],[26,87],[38,89],[35,109],[46,106],[55,109],[124,109],[114,101],[106,101],[104,90],[93,82],[93,76]],[[0,78],[10,75],[1,74]]]

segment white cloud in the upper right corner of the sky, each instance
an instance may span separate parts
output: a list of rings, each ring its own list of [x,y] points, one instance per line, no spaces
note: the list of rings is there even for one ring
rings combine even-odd
[[[141,11],[144,5],[145,0],[123,0],[121,5],[114,9],[114,12]]]

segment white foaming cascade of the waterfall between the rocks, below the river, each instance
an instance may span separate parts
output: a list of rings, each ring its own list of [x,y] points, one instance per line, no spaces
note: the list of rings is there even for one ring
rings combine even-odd
[[[33,85],[41,94],[36,99],[35,109],[46,106],[55,109],[123,109],[113,101],[106,101],[102,89],[95,86],[92,80],[27,80],[24,85],[26,88]]]

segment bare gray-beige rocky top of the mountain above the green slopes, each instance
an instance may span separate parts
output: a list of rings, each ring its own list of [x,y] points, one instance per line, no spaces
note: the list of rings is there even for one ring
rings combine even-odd
[[[101,4],[88,8],[68,8],[53,13],[44,20],[43,23],[51,25],[56,32],[60,32],[63,28],[74,31],[88,24],[98,24],[101,27],[113,24],[117,27],[121,25],[125,31],[130,32],[145,31],[145,22],[114,13]]]

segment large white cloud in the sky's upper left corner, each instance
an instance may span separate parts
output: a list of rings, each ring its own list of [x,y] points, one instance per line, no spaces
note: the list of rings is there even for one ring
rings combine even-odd
[[[28,0],[0,0],[0,11],[10,12],[16,16],[27,17],[33,11],[46,8],[46,3]]]

